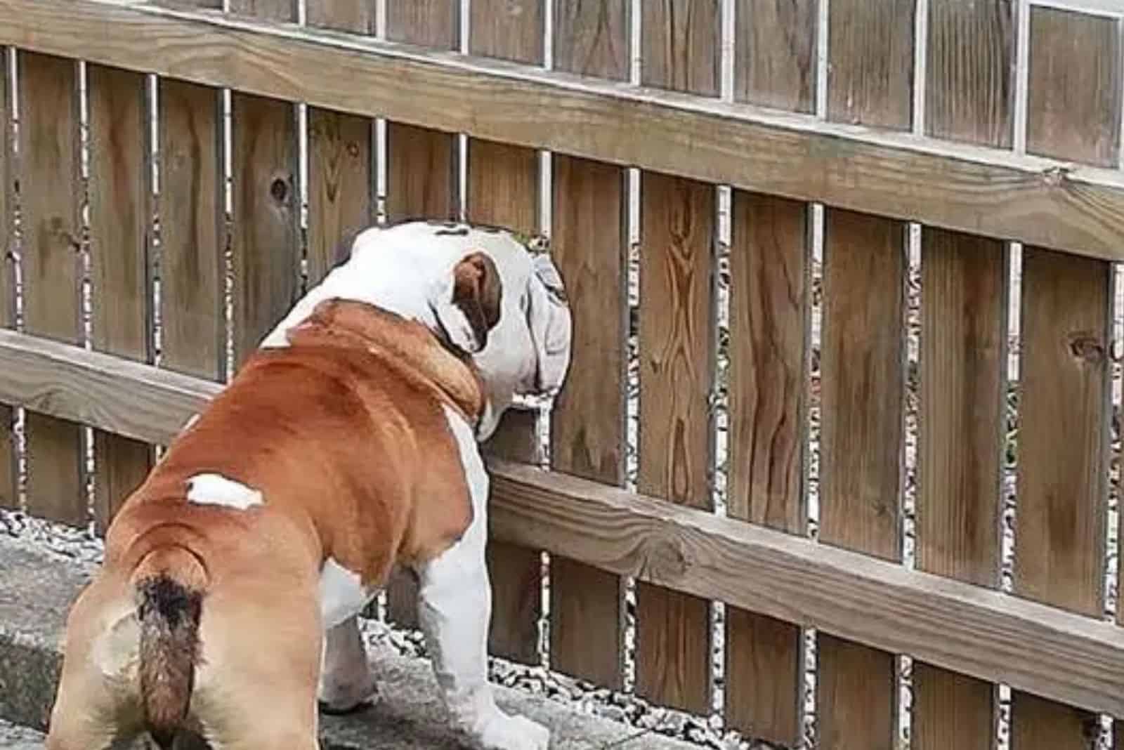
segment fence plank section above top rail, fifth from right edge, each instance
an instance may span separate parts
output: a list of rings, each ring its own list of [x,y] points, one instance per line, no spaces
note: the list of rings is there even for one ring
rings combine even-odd
[[[641,83],[718,95],[722,3],[650,0],[641,16]]]

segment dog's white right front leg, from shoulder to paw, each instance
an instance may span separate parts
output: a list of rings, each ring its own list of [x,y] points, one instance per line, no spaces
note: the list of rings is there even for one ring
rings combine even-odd
[[[471,428],[447,413],[472,494],[473,518],[460,541],[418,567],[418,618],[434,673],[453,722],[484,750],[546,750],[550,731],[500,711],[488,684],[488,474]]]

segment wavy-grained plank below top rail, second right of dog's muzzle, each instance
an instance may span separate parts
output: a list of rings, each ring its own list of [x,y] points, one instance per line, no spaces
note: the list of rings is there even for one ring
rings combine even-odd
[[[710,507],[711,259],[715,191],[641,175],[641,492]],[[709,708],[709,604],[649,584],[636,588],[636,693]]]

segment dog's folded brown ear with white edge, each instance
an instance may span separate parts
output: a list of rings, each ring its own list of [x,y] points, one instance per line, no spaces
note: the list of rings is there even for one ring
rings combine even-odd
[[[437,319],[453,344],[475,354],[488,346],[502,298],[496,264],[484,253],[470,253],[453,267],[452,295],[436,307]]]

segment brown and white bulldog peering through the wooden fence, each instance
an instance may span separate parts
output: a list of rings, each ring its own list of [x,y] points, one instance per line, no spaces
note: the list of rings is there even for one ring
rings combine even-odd
[[[169,447],[69,618],[48,750],[182,730],[312,750],[317,698],[377,690],[356,615],[395,566],[453,723],[545,750],[487,682],[488,475],[478,440],[546,394],[571,318],[545,255],[466,225],[369,229]]]

